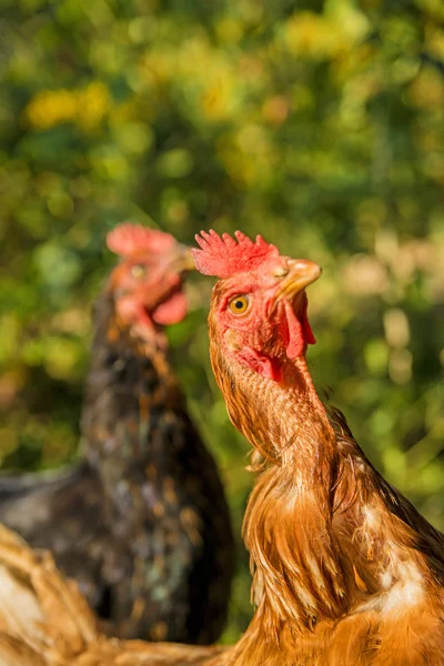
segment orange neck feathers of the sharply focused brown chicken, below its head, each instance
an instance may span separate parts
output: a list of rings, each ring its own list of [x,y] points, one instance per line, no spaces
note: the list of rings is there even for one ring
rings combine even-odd
[[[278,642],[284,624],[310,630],[347,605],[330,524],[335,434],[305,359],[287,362],[279,384],[243,365],[234,376],[215,342],[211,357],[233,424],[269,465],[251,495],[243,536],[259,597],[255,622]]]

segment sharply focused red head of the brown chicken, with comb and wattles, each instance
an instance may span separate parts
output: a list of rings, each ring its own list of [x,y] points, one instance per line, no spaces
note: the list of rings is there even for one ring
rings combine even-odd
[[[280,382],[282,365],[305,353],[315,339],[310,327],[305,286],[321,268],[281,255],[275,245],[242,232],[196,235],[192,250],[198,270],[216,275],[210,325],[225,357]]]

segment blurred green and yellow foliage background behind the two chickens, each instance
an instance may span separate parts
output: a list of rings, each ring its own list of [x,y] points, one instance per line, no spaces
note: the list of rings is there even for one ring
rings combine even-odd
[[[132,220],[261,232],[323,265],[310,361],[444,528],[442,0],[0,0],[0,460],[78,451],[90,306]],[[236,532],[251,487],[208,360],[212,279],[170,331]],[[241,551],[233,640],[251,616]]]

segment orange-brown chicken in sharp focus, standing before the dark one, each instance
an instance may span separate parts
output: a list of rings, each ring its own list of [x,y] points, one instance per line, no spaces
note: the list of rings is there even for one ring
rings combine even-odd
[[[233,424],[262,457],[243,534],[254,618],[219,662],[442,666],[444,536],[374,470],[320,401],[305,287],[321,274],[261,236],[202,232],[210,351]]]

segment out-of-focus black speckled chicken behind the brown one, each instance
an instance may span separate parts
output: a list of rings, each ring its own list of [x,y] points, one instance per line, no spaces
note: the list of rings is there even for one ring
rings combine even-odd
[[[52,551],[108,633],[210,644],[226,619],[233,537],[162,330],[186,314],[189,254],[131,224],[108,244],[123,261],[95,304],[84,460],[63,475],[0,478],[0,521]]]

